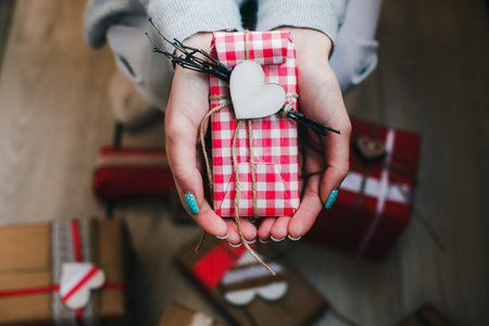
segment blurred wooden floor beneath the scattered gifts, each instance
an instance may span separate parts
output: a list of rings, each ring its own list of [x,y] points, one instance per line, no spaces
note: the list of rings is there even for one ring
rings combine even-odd
[[[84,1],[17,0],[0,76],[0,224],[102,216],[90,191],[97,150],[113,117],[105,47],[88,49]],[[343,314],[393,325],[425,302],[455,325],[489,325],[489,27],[481,0],[385,1],[380,64],[347,98],[351,115],[423,135],[417,220],[389,256],[372,263],[305,243],[280,243]],[[124,139],[163,146],[162,124]],[[138,254],[137,325],[172,301],[213,315],[173,256],[199,234],[172,223],[168,203],[120,205]],[[316,325],[342,325],[325,315]]]

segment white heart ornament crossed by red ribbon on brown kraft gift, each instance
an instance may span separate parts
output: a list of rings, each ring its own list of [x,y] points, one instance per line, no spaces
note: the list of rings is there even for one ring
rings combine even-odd
[[[64,263],[61,267],[60,297],[73,310],[90,301],[90,291],[101,288],[105,273],[91,263]]]

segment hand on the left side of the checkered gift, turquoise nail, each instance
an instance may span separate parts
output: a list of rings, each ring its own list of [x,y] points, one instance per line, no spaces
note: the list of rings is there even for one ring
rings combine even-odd
[[[209,52],[211,39],[211,33],[200,33],[184,43]],[[180,201],[206,233],[221,238],[228,235],[227,241],[236,244],[241,240],[233,220],[215,214],[204,198],[199,129],[209,110],[209,75],[176,66],[165,114],[165,139]],[[249,241],[256,238],[256,228],[244,220],[241,231]]]

